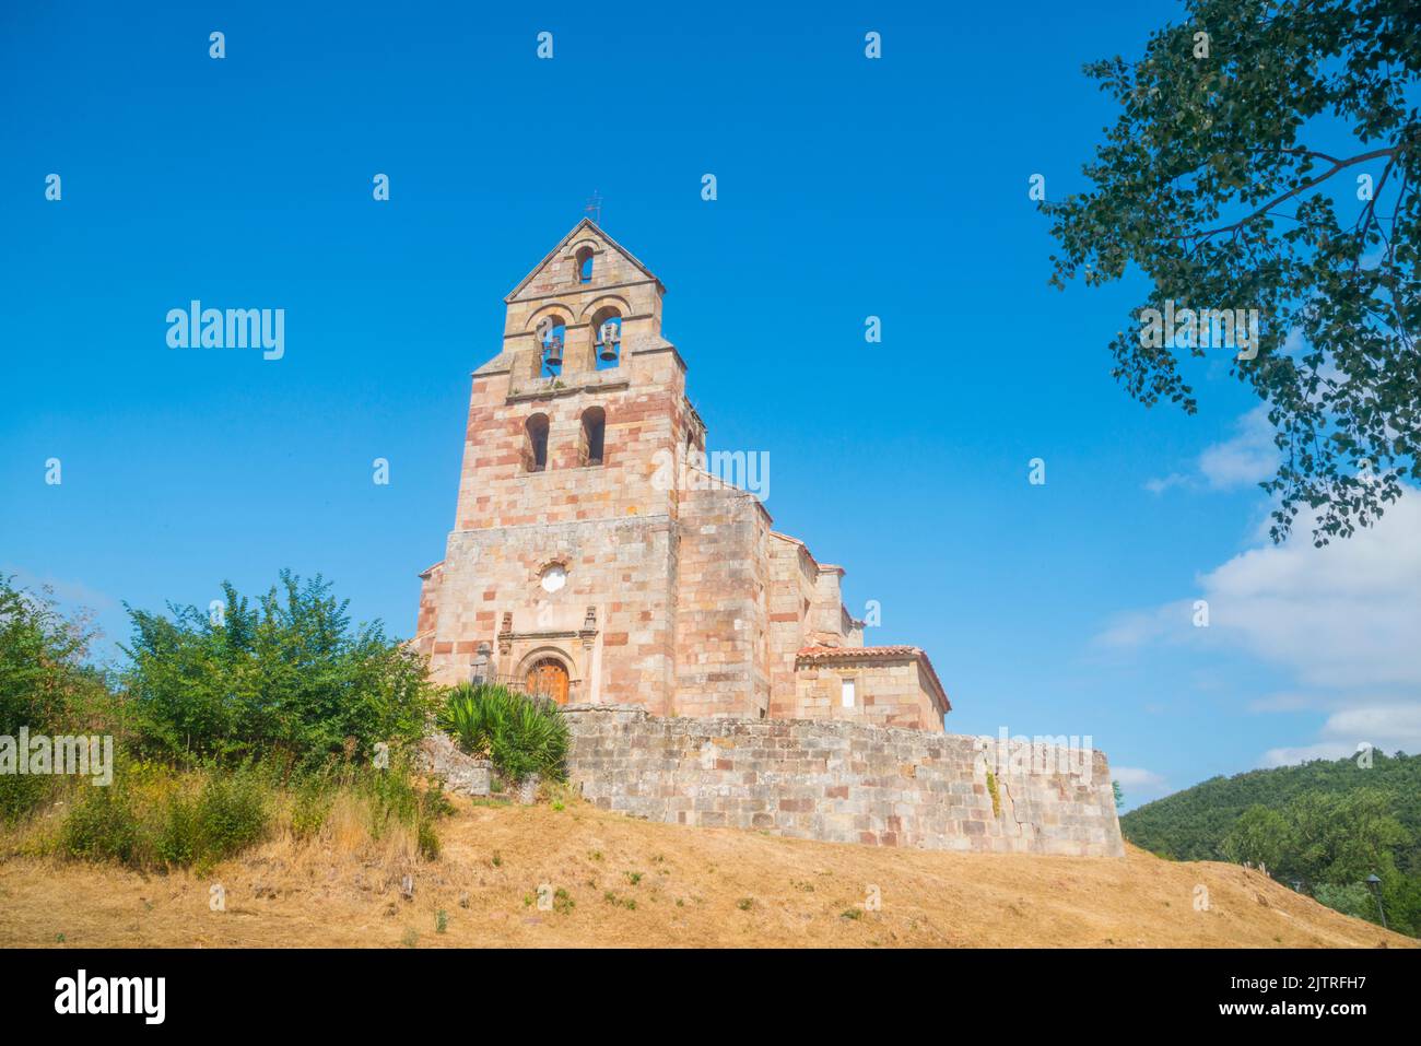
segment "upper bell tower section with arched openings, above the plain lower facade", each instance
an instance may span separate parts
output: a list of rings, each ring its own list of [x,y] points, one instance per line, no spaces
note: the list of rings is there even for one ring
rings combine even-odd
[[[587,219],[509,293],[502,350],[473,372],[458,530],[675,514],[658,452],[705,435],[664,294]]]

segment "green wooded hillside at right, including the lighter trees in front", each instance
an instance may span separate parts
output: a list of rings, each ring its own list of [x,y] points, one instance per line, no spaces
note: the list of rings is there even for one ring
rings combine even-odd
[[[1377,920],[1363,881],[1381,878],[1393,929],[1421,934],[1421,756],[1357,759],[1211,777],[1120,819],[1135,846],[1172,860],[1266,864],[1349,915]]]

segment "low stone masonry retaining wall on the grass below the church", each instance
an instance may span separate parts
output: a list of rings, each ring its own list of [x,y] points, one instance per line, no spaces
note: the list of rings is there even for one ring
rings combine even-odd
[[[925,850],[1124,854],[1100,752],[1088,775],[995,773],[995,742],[980,738],[625,705],[566,712],[571,779],[597,806],[635,817]]]

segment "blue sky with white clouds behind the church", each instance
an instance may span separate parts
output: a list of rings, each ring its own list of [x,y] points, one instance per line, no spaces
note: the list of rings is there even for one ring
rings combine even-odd
[[[1107,351],[1140,287],[1046,284],[1027,180],[1084,188],[1113,119],[1080,65],[1138,55],[1178,6],[811,10],[7,6],[0,568],[111,640],[122,601],[281,567],[411,634],[469,371],[598,190],[668,287],[710,446],[770,453],[777,529],[847,567],[851,611],[881,604],[868,642],[931,652],[955,732],[1088,733],[1133,803],[1421,736],[1395,615],[1351,613],[1403,598],[1415,519],[1268,549],[1249,394],[1215,360],[1198,416],[1141,408]],[[284,308],[284,358],[169,350],[192,298]],[[1329,657],[1339,622],[1361,651]]]

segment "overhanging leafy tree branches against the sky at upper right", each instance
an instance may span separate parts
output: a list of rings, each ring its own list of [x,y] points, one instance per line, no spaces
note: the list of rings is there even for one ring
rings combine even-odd
[[[1204,357],[1201,340],[1155,344],[1144,310],[1256,308],[1256,355],[1231,374],[1276,429],[1272,536],[1306,507],[1326,544],[1421,478],[1421,16],[1415,0],[1185,9],[1138,61],[1086,67],[1120,115],[1084,169],[1093,188],[1042,205],[1061,249],[1052,283],[1142,273],[1151,289],[1111,344],[1114,377],[1147,406],[1189,414],[1181,350]]]

